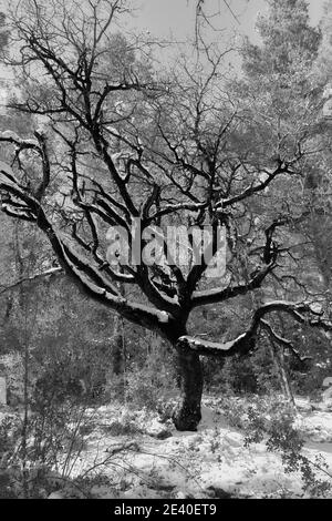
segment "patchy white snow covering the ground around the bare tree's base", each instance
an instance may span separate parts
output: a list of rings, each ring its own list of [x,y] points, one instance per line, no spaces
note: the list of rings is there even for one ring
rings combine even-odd
[[[303,400],[302,400],[303,401]],[[332,413],[299,405],[305,456],[321,453],[332,471]],[[302,410],[304,409],[304,411]],[[243,433],[230,427],[207,400],[197,432],[177,432],[153,413],[114,406],[92,411],[94,429],[72,477],[97,464],[112,486],[95,486],[102,498],[298,498],[301,478],[283,471],[264,443],[243,446]],[[124,446],[125,450],[120,450]],[[90,470],[91,472],[91,470]],[[305,497],[305,496],[304,496]],[[331,496],[332,497],[332,496]]]

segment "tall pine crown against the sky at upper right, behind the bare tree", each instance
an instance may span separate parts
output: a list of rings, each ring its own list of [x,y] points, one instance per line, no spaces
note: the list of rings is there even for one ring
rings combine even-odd
[[[242,70],[245,92],[271,133],[272,155],[287,160],[308,136],[304,127],[317,123],[317,78],[313,72],[321,32],[310,25],[304,0],[267,0],[269,10],[257,29],[261,45],[245,40]],[[267,126],[269,129],[267,129]]]

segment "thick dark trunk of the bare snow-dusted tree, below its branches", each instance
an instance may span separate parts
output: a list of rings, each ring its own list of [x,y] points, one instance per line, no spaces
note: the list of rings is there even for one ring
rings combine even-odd
[[[178,349],[180,401],[173,421],[177,430],[197,430],[201,419],[203,369],[199,355],[190,349]]]

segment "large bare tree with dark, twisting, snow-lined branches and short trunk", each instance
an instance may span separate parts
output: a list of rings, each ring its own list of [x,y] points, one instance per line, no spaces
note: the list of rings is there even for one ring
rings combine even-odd
[[[287,162],[267,160],[250,116],[225,92],[222,57],[211,49],[206,48],[203,69],[184,65],[166,79],[155,73],[149,48],[116,32],[125,11],[123,0],[90,0],[84,8],[74,1],[24,0],[12,13],[11,38],[19,52],[11,63],[24,88],[12,106],[46,124],[31,140],[2,133],[0,141],[11,147],[13,160],[0,165],[2,211],[34,223],[86,295],[174,346],[181,377],[174,421],[179,430],[195,430],[203,392],[200,355],[249,354],[260,330],[293,350],[267,321],[277,311],[325,330],[332,325],[305,293],[294,302],[259,302],[242,333],[228,341],[188,334],[195,309],[259,288],[269,296],[273,276],[283,280],[284,273],[299,269],[292,246],[281,244],[282,231],[305,213],[300,208],[299,216],[297,207],[295,217],[284,210],[278,191],[280,212],[271,212],[269,191],[280,183],[289,186],[288,180],[295,183],[302,153]],[[183,266],[169,259],[167,245],[163,266],[125,263],[123,252],[118,267],[113,266],[107,229],[124,229],[132,253],[138,222],[139,256],[151,226],[194,229],[208,224],[215,257],[225,229],[227,273],[208,279],[206,252],[199,263]],[[188,236],[193,254],[194,234]],[[118,283],[129,292],[123,294]],[[290,295],[299,297],[299,292]]]

